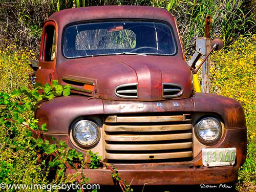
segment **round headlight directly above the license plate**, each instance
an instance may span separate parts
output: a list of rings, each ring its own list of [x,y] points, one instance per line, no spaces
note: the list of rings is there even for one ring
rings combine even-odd
[[[206,117],[196,124],[195,132],[200,142],[214,144],[221,137],[221,123],[213,117]]]

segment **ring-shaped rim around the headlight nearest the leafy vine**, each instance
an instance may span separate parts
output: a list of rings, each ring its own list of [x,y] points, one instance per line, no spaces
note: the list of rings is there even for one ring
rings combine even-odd
[[[97,130],[97,137],[96,137],[95,141],[88,145],[79,142],[79,140],[76,138],[76,135],[75,135],[75,130],[78,128],[77,125],[80,124],[81,122],[90,122],[96,127],[96,130]],[[89,150],[90,148],[93,148],[100,140],[100,126],[92,120],[78,119],[77,121],[75,121],[74,123],[71,124],[69,135],[70,135],[71,143],[73,145],[75,145],[80,150]]]

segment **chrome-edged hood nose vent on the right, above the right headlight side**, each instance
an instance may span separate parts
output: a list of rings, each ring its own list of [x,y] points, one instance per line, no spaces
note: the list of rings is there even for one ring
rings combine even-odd
[[[179,97],[183,94],[183,88],[175,83],[163,83],[163,98]]]

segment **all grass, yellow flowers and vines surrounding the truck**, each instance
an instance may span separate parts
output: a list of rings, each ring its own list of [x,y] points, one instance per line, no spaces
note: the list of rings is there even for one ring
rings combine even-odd
[[[44,20],[57,10],[96,5],[145,5],[169,10],[177,17],[186,56],[193,52],[196,37],[204,35],[205,16],[212,16],[212,37],[221,36],[225,41],[225,49],[211,56],[215,63],[210,71],[211,92],[234,98],[243,105],[248,128],[248,154],[240,169],[237,187],[239,191],[255,191],[255,0],[0,0],[0,92],[4,92],[0,94],[0,183],[78,182],[75,181],[75,175],[64,175],[67,165],[73,166],[74,159],[80,162],[77,170],[103,165],[96,154],[90,153],[92,163],[86,164],[83,161],[86,157],[61,141],[50,144],[31,137],[36,134],[34,130],[38,129],[32,113],[35,101],[63,95],[63,88],[57,83],[53,89],[50,86],[38,87],[47,90],[44,96],[39,96],[29,86],[27,74],[30,71],[29,59],[35,59],[38,55]],[[68,92],[69,88],[66,87],[64,95],[68,95]],[[41,129],[46,129],[45,125]],[[129,185],[122,182],[115,167],[109,164],[104,166],[111,169],[113,178],[123,190],[131,190]],[[82,179],[80,184],[90,182],[87,178]]]

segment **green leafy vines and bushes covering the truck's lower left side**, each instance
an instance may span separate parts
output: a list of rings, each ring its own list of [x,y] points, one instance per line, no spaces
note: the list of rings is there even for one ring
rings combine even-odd
[[[42,90],[42,94],[38,94]],[[14,90],[11,94],[0,93],[0,183],[13,185],[8,191],[17,191],[16,187],[24,190],[24,185],[30,187],[26,191],[45,191],[50,186],[62,186],[63,184],[78,183],[89,184],[90,178],[77,179],[84,168],[99,168],[104,164],[97,153],[89,151],[88,154],[77,152],[68,147],[65,141],[55,143],[40,137],[37,119],[34,119],[32,111],[38,105],[38,101],[46,101],[56,96],[70,95],[70,85],[62,87],[57,80],[53,80],[52,86],[37,84],[35,89],[27,87]],[[47,131],[46,124],[40,126],[41,131]],[[32,137],[33,136],[33,137]],[[37,138],[37,139],[35,139]],[[87,159],[90,161],[87,162]],[[123,192],[133,191],[130,185],[125,184],[114,166],[105,164],[111,170],[112,177],[120,185]],[[67,170],[75,169],[75,174],[66,175]],[[69,172],[67,172],[69,173]],[[23,184],[18,186],[17,184]],[[36,188],[31,188],[31,184]],[[40,185],[40,186],[39,186]],[[45,187],[44,187],[45,186]],[[3,186],[1,186],[1,189]],[[60,188],[58,188],[60,189]],[[97,191],[94,189],[92,191]]]

